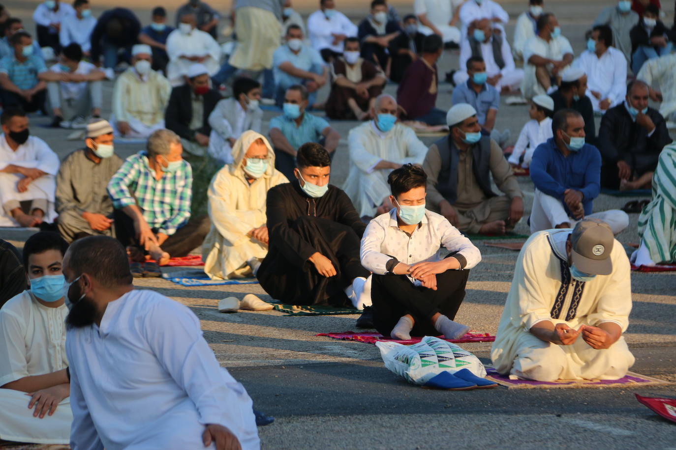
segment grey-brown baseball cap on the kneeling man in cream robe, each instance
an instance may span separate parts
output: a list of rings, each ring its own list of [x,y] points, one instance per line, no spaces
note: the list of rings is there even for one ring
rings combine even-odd
[[[573,233],[571,259],[575,267],[589,275],[610,275],[612,273],[612,244],[615,238],[610,226],[598,219],[579,221]]]

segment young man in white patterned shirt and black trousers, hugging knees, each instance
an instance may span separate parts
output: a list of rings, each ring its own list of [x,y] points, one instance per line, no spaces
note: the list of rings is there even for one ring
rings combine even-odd
[[[468,327],[453,318],[481,253],[445,217],[425,209],[423,169],[406,164],[387,182],[395,208],[370,221],[361,247],[362,264],[373,273],[375,329],[393,339],[462,337]],[[451,252],[446,258],[441,246]]]

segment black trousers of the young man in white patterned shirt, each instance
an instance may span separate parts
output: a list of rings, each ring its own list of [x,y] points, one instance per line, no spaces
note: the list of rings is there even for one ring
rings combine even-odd
[[[413,316],[412,336],[438,336],[431,318],[437,312],[455,318],[465,295],[469,271],[445,271],[437,275],[437,290],[416,287],[406,275],[373,274],[371,299],[373,324],[383,336],[389,336],[399,319]]]

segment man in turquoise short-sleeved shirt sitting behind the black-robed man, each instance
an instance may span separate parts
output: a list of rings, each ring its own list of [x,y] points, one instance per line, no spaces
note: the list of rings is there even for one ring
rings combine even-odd
[[[293,179],[298,149],[308,142],[324,142],[324,149],[333,154],[340,135],[322,117],[312,115],[308,108],[308,91],[297,84],[287,89],[284,113],[270,120],[270,140],[276,153],[275,167],[285,177]]]

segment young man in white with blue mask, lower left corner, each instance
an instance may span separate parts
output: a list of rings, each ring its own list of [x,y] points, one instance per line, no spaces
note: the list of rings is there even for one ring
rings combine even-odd
[[[0,310],[0,439],[68,443],[73,416],[62,273],[67,248],[57,233],[29,237],[24,266],[30,289]]]

